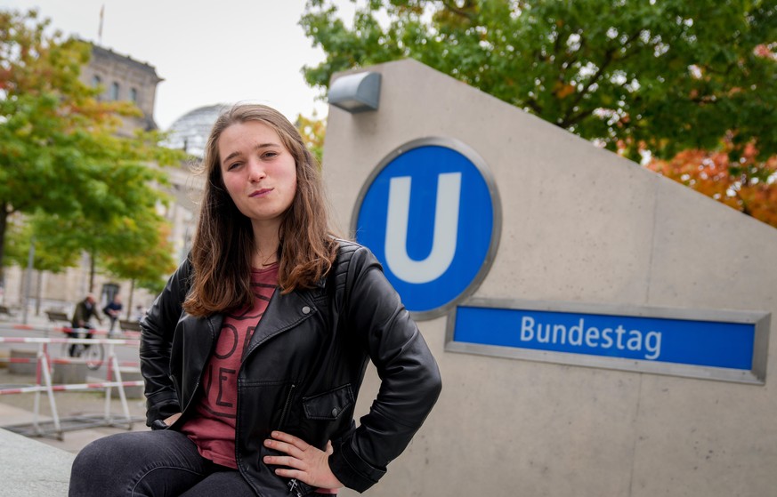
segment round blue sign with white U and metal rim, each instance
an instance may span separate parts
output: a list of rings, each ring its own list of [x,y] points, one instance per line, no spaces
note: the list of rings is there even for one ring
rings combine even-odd
[[[360,193],[353,232],[375,253],[417,319],[473,293],[496,253],[501,211],[490,172],[450,139],[414,140],[376,167]]]

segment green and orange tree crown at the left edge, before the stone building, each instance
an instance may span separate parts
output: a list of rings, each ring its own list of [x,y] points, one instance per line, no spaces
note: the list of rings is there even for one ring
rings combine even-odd
[[[0,11],[3,262],[8,220],[20,214],[36,214],[56,227],[49,236],[67,236],[93,255],[132,250],[138,242],[129,237],[158,218],[157,186],[166,184],[166,174],[149,164],[180,158],[158,147],[157,132],[118,137],[120,117],[140,111],[129,102],[97,100],[100,90],[79,80],[91,46],[49,35],[48,27],[35,11]]]

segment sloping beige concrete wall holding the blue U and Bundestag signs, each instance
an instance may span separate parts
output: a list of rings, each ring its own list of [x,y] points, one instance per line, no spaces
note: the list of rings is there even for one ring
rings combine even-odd
[[[489,164],[503,210],[473,297],[777,313],[774,228],[416,61],[368,70],[383,75],[379,110],[328,115],[325,179],[345,232],[394,148],[455,138]],[[768,370],[749,385],[446,352],[446,323],[419,322],[440,401],[368,495],[777,494]]]

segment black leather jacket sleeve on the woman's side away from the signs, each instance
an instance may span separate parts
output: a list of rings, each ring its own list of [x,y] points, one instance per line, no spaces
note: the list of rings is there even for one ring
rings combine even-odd
[[[170,350],[175,325],[189,289],[190,261],[183,261],[167,281],[165,289],[141,320],[141,373],[145,381],[146,424],[164,420],[181,407],[170,379]]]

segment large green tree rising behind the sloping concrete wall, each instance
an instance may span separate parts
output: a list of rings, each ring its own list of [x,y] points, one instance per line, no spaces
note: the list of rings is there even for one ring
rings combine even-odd
[[[635,160],[777,154],[773,0],[368,0],[350,27],[309,0],[300,24],[322,88],[413,58]]]

